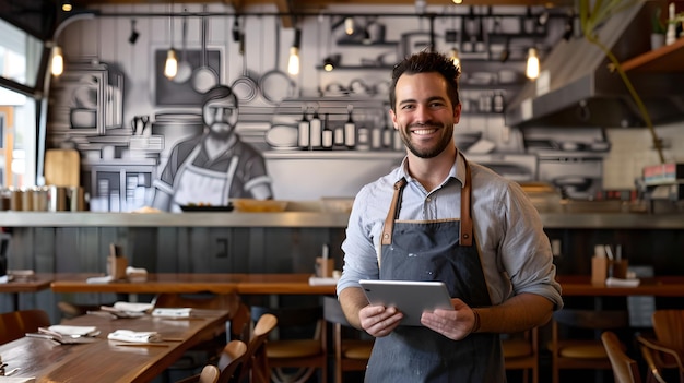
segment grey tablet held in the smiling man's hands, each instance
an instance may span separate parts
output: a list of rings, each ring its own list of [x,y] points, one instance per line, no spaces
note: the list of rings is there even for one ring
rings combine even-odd
[[[453,310],[443,282],[376,280],[358,282],[373,304],[393,306],[404,314],[402,325],[421,326],[421,314],[435,309]]]

